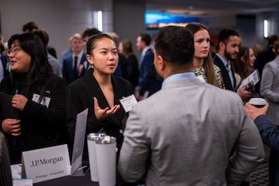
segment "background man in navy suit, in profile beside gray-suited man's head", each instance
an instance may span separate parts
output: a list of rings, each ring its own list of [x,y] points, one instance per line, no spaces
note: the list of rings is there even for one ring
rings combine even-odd
[[[137,50],[142,51],[142,56],[140,59],[140,77],[139,77],[139,86],[140,92],[137,95],[137,100],[141,100],[148,92],[147,96],[151,96],[151,94],[160,90],[161,83],[159,80],[150,78],[156,75],[151,75],[149,73],[156,71],[152,71],[154,54],[151,50],[151,37],[149,34],[140,34],[137,36]]]

